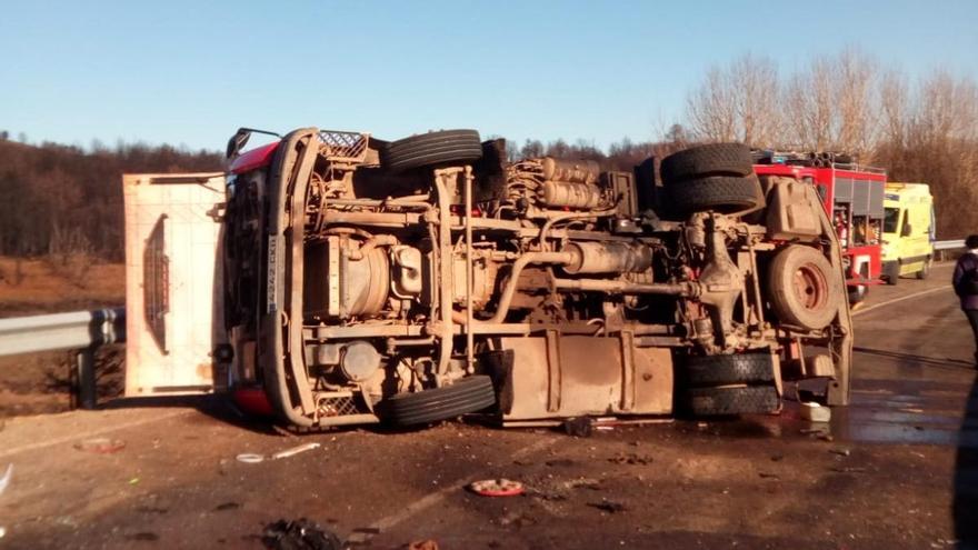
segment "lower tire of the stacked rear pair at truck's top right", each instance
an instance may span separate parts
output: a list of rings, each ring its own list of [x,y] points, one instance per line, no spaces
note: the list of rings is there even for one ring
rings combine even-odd
[[[710,177],[666,186],[670,206],[683,214],[716,210],[723,213],[762,208],[764,193],[756,177]]]

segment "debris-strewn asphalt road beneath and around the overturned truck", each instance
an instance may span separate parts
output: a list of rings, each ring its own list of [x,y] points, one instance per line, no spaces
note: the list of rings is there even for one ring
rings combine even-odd
[[[14,418],[0,547],[262,548],[267,524],[305,517],[360,548],[971,548],[978,400],[949,274],[872,289],[855,317],[854,403],[822,431],[791,403],[590,438],[458,423],[290,438],[213,400]],[[124,448],[76,449],[97,437]],[[322,447],[236,460],[307,442]],[[498,477],[528,494],[463,489]]]

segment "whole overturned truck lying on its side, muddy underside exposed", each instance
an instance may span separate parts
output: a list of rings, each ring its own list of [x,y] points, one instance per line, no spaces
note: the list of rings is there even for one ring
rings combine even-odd
[[[766,413],[816,378],[848,400],[838,237],[745,146],[625,172],[473,130],[249,134],[227,173],[124,177],[129,396],[300,429]]]

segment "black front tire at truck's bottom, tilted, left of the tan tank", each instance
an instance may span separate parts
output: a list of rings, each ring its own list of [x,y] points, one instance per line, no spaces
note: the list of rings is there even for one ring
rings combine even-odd
[[[378,412],[387,423],[416,426],[448,420],[493,404],[496,391],[491,379],[472,376],[433,390],[398,393],[378,404]]]

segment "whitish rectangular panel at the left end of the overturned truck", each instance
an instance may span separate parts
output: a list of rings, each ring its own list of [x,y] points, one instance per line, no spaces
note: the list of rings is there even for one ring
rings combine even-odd
[[[126,396],[200,393],[226,342],[224,176],[126,174]]]

